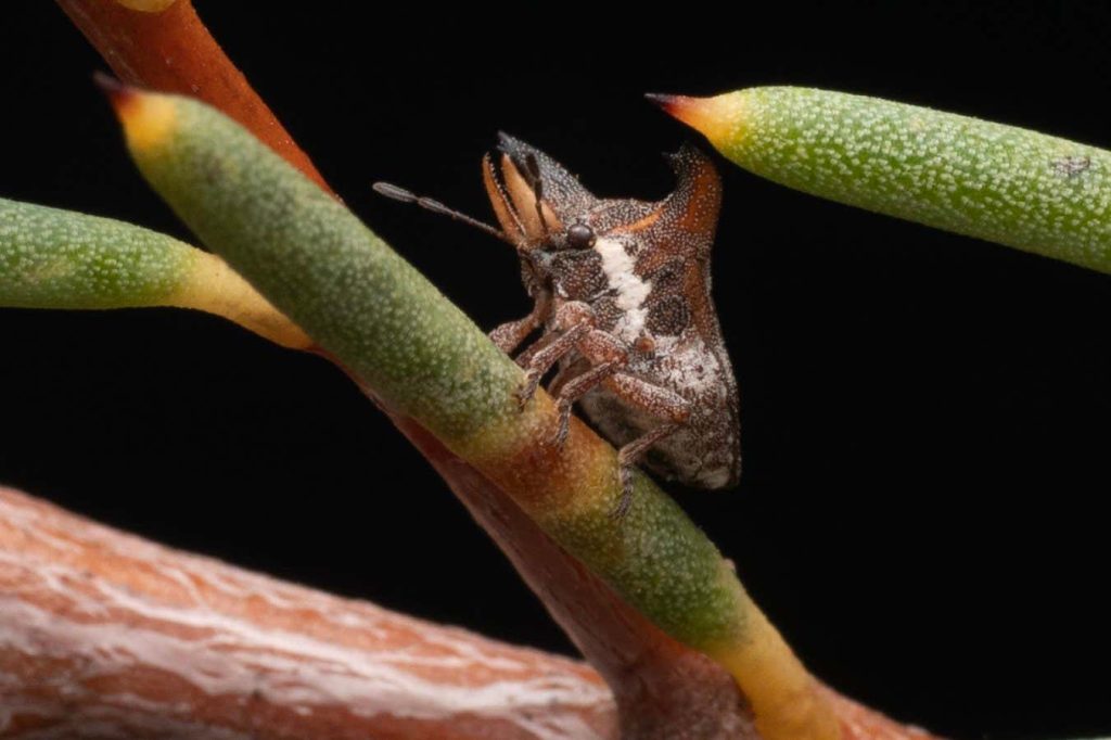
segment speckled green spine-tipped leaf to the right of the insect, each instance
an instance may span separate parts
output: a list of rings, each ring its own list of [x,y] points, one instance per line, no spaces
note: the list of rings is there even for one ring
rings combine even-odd
[[[1111,152],[807,88],[655,97],[725,157],[831,200],[1111,272]]]

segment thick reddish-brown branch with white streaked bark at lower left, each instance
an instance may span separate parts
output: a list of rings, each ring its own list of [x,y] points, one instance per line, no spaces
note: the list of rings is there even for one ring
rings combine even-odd
[[[601,678],[0,489],[0,736],[617,737]]]

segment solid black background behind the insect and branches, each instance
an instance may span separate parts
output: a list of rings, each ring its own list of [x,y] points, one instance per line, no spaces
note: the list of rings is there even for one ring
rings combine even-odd
[[[487,328],[528,308],[511,251],[369,186],[484,218],[479,160],[499,129],[600,194],[650,199],[671,184],[658,152],[693,134],[645,91],[808,84],[1111,146],[1100,3],[738,3],[728,19],[411,3],[383,8],[388,22],[363,3],[198,6],[351,208]],[[0,194],[188,236],[127,160],[89,83],[104,64],[53,3],[4,3],[0,63]],[[1109,279],[721,162],[714,292],[745,472],[683,504],[845,693],[965,738],[1111,733]],[[0,337],[0,481],[177,547],[571,650],[326,362],[171,310],[6,310]]]

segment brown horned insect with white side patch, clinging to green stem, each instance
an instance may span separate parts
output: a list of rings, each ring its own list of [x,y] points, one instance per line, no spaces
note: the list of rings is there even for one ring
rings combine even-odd
[[[692,147],[669,156],[678,178],[659,202],[597,198],[543,152],[501,134],[482,178],[501,229],[387,183],[414,202],[512,244],[533,299],[523,319],[490,333],[526,369],[523,406],[558,367],[554,442],[582,411],[620,446],[621,517],[632,500],[631,467],[699,488],[735,484],[741,469],[737,382],[710,298],[710,247],[721,180]]]

